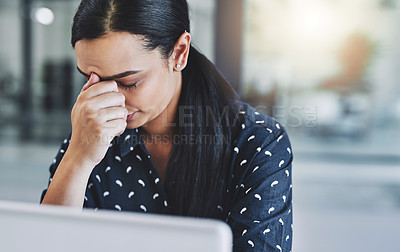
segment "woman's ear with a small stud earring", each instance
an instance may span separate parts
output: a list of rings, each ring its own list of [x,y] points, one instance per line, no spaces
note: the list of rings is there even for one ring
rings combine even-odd
[[[175,43],[172,64],[176,72],[182,71],[187,65],[191,39],[190,33],[185,31]]]

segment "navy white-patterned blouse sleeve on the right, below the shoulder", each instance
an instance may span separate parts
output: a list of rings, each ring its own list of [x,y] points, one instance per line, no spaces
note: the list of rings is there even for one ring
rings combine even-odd
[[[257,148],[255,154],[239,167],[245,174],[227,219],[234,251],[291,251],[293,156],[286,132],[278,132],[265,136],[260,147],[250,148]]]

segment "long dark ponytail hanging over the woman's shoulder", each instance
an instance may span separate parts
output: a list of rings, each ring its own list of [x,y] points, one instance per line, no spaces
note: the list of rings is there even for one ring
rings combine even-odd
[[[166,190],[175,214],[226,218],[238,97],[213,63],[192,46],[179,101],[192,116],[189,123],[178,125],[178,135],[195,142],[174,145],[167,165]],[[178,124],[184,119],[178,116]]]

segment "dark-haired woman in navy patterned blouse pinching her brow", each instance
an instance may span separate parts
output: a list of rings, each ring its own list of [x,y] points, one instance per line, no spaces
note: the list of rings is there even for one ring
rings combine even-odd
[[[216,218],[234,250],[289,251],[292,153],[191,46],[186,0],[83,0],[88,81],[41,203]]]

